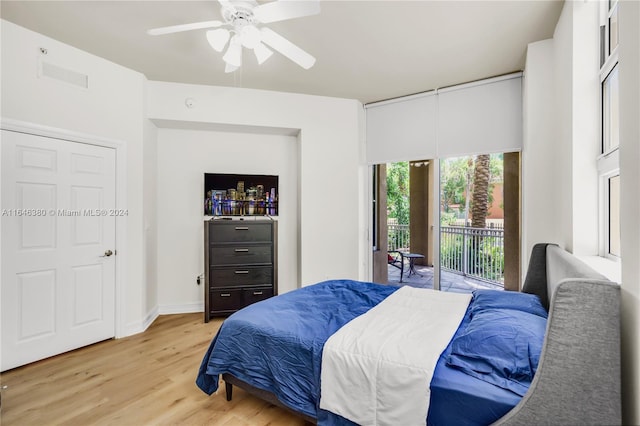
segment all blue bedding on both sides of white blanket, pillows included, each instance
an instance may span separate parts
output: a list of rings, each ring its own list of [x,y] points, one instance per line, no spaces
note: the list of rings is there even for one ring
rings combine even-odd
[[[196,383],[211,394],[219,375],[230,373],[318,424],[353,425],[319,408],[322,349],[335,331],[398,288],[325,281],[250,305],[223,322]],[[545,325],[535,296],[476,291],[436,366],[426,423],[485,425],[502,417],[533,379]]]

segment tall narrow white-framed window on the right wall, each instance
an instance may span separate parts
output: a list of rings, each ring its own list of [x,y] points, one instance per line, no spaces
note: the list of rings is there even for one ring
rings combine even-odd
[[[600,255],[620,258],[620,85],[618,78],[618,0],[602,2],[600,19]]]

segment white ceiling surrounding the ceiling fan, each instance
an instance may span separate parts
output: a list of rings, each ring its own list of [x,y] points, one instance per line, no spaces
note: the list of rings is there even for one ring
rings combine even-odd
[[[358,99],[363,103],[524,68],[528,43],[553,36],[560,0],[323,0],[319,15],[269,24],[317,58],[304,70],[245,53],[224,73],[205,30],[150,28],[221,19],[207,1],[7,1],[3,19],[137,70],[150,80]]]

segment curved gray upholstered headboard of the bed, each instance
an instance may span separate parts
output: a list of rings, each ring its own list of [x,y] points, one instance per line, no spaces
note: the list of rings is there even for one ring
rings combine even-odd
[[[556,245],[533,249],[523,291],[549,306],[536,375],[496,425],[621,423],[620,287]]]

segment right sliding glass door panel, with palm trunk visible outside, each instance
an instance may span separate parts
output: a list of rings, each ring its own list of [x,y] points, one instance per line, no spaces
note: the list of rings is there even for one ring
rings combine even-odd
[[[519,288],[519,175],[518,153],[439,161],[437,288]]]

